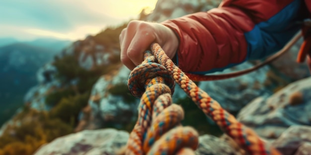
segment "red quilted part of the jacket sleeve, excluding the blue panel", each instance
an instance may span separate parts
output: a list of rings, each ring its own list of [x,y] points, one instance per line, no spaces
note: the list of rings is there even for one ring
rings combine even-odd
[[[223,0],[218,8],[166,20],[179,38],[178,66],[184,72],[206,72],[246,60],[244,34],[270,19],[294,0]],[[308,0],[307,0],[308,1]]]

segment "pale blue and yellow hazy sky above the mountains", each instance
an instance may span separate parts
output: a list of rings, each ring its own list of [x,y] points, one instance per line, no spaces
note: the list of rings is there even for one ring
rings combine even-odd
[[[0,38],[83,39],[136,19],[157,0],[0,0]]]

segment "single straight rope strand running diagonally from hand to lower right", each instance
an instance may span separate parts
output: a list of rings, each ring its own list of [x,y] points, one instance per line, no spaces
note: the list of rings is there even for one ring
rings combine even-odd
[[[152,52],[159,64],[167,69],[171,77],[173,77],[175,82],[186,92],[194,103],[246,152],[250,155],[281,155],[273,147],[268,147],[253,130],[239,123],[217,101],[198,88],[184,72],[174,65],[158,44],[152,45]]]

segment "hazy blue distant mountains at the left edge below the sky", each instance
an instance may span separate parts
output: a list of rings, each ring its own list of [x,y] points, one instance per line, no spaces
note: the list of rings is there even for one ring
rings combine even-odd
[[[10,117],[23,104],[27,90],[37,84],[37,70],[70,44],[56,39],[0,39],[0,125],[7,119],[4,116]]]

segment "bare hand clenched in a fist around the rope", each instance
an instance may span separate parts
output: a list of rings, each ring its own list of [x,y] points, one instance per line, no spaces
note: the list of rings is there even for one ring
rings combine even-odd
[[[159,44],[169,58],[173,58],[178,48],[178,39],[168,27],[152,22],[133,20],[120,36],[121,61],[133,70],[144,60],[144,52],[152,43]]]

